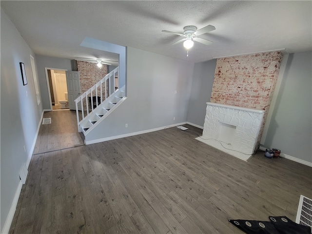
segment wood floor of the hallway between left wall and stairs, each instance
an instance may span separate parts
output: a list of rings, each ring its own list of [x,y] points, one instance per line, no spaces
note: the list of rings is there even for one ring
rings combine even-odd
[[[84,145],[77,130],[76,111],[61,110],[44,112],[51,124],[41,124],[34,155]]]

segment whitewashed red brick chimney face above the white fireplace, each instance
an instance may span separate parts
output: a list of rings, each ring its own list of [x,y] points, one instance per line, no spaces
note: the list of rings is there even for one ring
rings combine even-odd
[[[259,53],[217,59],[211,102],[265,110],[259,144],[283,55]]]

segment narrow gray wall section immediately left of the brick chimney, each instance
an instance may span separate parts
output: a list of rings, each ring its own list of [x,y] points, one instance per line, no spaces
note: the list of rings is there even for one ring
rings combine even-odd
[[[207,101],[210,101],[215,78],[216,59],[198,62],[194,66],[192,91],[187,121],[204,126]]]

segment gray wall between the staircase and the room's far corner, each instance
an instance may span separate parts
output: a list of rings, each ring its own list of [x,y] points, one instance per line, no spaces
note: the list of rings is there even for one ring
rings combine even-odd
[[[87,141],[187,120],[194,63],[131,47],[127,48],[127,63],[128,98],[86,136]]]

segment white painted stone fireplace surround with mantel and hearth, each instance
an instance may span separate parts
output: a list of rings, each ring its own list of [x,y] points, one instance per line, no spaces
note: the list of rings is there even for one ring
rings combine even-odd
[[[263,110],[207,102],[202,137],[196,139],[247,161],[257,150]]]

